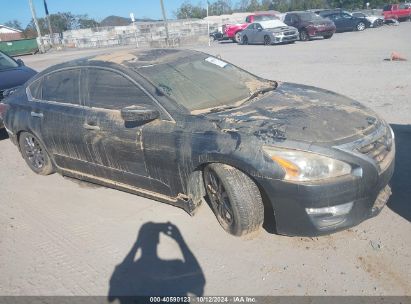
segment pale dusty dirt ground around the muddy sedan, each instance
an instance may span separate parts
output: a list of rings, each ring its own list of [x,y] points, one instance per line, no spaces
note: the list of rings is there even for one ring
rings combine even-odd
[[[411,295],[410,32],[408,22],[293,45],[197,48],[266,78],[337,91],[384,117],[396,134],[397,160],[393,195],[378,217],[318,238],[265,230],[236,238],[220,228],[207,205],[190,217],[117,190],[57,174],[37,176],[3,134],[0,295],[107,296],[124,286],[139,291],[147,272],[170,267],[193,276],[176,274],[168,287],[197,295]],[[384,61],[392,51],[409,61]],[[101,52],[106,50],[23,60],[42,70]],[[174,232],[163,233],[167,222]]]

